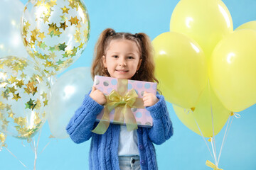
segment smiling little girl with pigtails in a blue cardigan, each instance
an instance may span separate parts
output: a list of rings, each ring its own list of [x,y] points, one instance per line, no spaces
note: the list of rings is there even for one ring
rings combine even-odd
[[[144,33],[116,33],[107,28],[95,45],[92,77],[102,75],[118,79],[157,81],[149,37]],[[144,107],[153,118],[152,128],[127,131],[125,125],[110,124],[103,135],[92,132],[97,114],[106,98],[92,87],[66,128],[75,143],[91,140],[90,169],[157,169],[154,144],[161,145],[173,135],[173,127],[164,96],[144,92]]]

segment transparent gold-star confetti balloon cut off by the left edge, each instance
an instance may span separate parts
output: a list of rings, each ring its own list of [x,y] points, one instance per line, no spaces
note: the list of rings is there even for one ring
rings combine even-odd
[[[36,134],[46,121],[50,99],[46,75],[25,58],[0,59],[0,131],[21,139]]]

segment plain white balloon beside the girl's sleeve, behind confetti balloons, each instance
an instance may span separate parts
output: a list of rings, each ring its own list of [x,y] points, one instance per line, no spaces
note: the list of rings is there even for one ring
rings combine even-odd
[[[92,88],[92,84],[88,67],[72,69],[53,84],[48,123],[54,137],[68,137],[65,127],[81,105],[85,94]]]

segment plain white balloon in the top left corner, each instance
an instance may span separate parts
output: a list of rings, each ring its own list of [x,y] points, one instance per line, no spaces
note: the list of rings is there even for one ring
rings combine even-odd
[[[8,55],[27,57],[21,39],[21,16],[24,5],[19,0],[0,1],[0,58]]]

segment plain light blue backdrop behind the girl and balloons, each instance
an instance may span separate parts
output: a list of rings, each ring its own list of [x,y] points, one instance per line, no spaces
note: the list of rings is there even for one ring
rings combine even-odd
[[[21,0],[26,4],[27,0]],[[242,23],[256,20],[255,0],[223,0],[233,18],[234,28]],[[90,67],[95,42],[105,28],[116,31],[144,32],[151,40],[157,35],[169,31],[169,21],[178,0],[85,0],[90,16],[91,32],[87,48],[80,59],[65,72],[76,67]],[[167,104],[174,124],[174,136],[163,145],[156,146],[159,169],[210,169],[206,160],[213,162],[202,137],[192,132],[178,120],[170,103]],[[219,167],[233,170],[256,169],[256,105],[240,112],[241,118],[234,119],[220,157]],[[217,150],[224,135],[217,135]],[[56,140],[48,138],[50,130],[46,123],[41,130],[38,145],[36,169],[88,169],[90,141],[80,145],[70,139]],[[38,135],[36,135],[37,139]],[[42,149],[49,143],[48,147]],[[26,141],[8,137],[8,149],[21,160],[28,169],[33,169],[34,154]],[[210,142],[208,142],[210,145]],[[6,149],[0,152],[0,169],[26,169]]]

